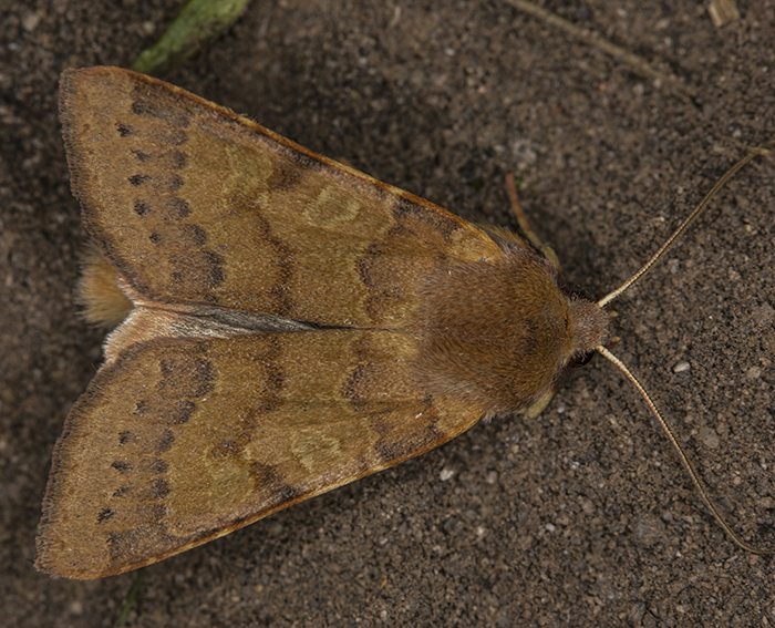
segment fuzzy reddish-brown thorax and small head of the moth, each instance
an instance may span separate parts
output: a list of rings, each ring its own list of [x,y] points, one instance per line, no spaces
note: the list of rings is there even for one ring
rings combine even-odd
[[[509,247],[496,261],[446,268],[425,286],[418,377],[434,394],[492,412],[524,408],[593,334],[604,333],[589,306],[597,308],[569,300],[551,267],[524,247]]]

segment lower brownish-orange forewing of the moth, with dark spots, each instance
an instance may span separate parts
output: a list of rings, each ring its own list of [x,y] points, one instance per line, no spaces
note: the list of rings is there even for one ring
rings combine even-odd
[[[335,330],[125,351],[66,420],[38,567],[137,568],[456,436],[482,410],[428,395],[416,352],[401,333]]]

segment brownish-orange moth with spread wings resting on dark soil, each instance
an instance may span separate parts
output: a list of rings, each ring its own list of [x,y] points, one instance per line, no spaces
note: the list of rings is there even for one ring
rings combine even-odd
[[[162,560],[616,360],[604,303],[523,237],[128,70],[64,72],[60,111],[87,316],[115,328],[54,449],[43,572]]]

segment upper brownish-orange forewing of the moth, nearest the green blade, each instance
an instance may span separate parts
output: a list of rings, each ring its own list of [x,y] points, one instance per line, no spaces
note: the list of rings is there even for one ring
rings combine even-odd
[[[61,116],[91,236],[154,301],[395,327],[428,272],[502,255],[453,214],[142,74],[64,73]]]

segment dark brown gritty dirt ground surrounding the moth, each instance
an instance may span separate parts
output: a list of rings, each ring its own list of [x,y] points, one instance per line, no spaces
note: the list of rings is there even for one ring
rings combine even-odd
[[[633,271],[745,147],[775,137],[775,2],[540,2],[647,76],[505,0],[256,0],[164,78],[478,222],[503,174],[570,286]],[[112,626],[135,576],[32,567],[51,447],[100,363],[56,81],[128,65],[182,2],[3,2],[0,594],[4,626]],[[570,4],[574,4],[570,7]],[[617,302],[616,348],[724,512],[775,543],[775,159],[748,167]],[[685,362],[689,368],[676,368]],[[144,570],[128,626],[773,626],[775,563],[733,546],[632,388],[571,370],[535,421],[421,459]]]

